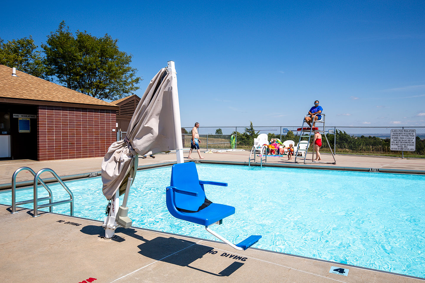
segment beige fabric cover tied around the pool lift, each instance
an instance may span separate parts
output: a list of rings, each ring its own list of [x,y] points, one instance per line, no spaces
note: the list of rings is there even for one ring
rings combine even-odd
[[[172,72],[162,68],[150,81],[137,106],[127,134],[113,143],[102,161],[103,194],[111,199],[125,192],[128,177],[135,177],[138,154],[155,154],[176,149],[173,113]],[[178,105],[178,104],[177,104]],[[180,123],[180,121],[178,121]]]

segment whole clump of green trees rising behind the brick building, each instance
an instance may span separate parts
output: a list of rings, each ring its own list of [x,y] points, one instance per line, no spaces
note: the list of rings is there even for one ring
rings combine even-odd
[[[62,21],[47,36],[42,51],[31,35],[8,42],[0,38],[0,64],[95,98],[117,100],[133,94],[142,81],[130,66],[132,55],[120,51],[117,43],[108,34],[96,37],[77,31],[74,35]]]

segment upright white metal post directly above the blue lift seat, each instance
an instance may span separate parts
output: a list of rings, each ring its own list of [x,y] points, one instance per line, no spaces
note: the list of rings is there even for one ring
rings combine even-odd
[[[181,121],[180,121],[180,106],[178,104],[178,91],[177,91],[177,73],[174,61],[168,61],[167,70],[172,73],[173,80],[171,82],[171,89],[173,92],[173,122],[174,122],[174,135],[176,138],[176,156],[177,163],[183,163],[183,142],[181,140]]]

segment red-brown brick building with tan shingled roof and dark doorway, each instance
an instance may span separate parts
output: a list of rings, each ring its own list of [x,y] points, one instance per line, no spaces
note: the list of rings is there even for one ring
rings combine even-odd
[[[104,156],[119,106],[0,65],[0,158]]]

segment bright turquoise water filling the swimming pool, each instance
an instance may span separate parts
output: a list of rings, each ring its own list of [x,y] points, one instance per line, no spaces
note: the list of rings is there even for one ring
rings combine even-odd
[[[234,243],[262,235],[254,247],[425,277],[425,176],[196,166],[201,180],[229,184],[205,185],[205,191],[212,202],[236,207],[223,225],[211,227]],[[137,172],[128,201],[133,226],[217,240],[203,226],[168,213],[170,175],[171,167]],[[101,179],[66,184],[74,193],[74,215],[103,221]],[[49,186],[55,201],[68,197],[60,185]],[[32,189],[17,191],[17,201],[31,198]],[[0,203],[10,205],[10,191],[0,193]],[[69,204],[54,212],[69,214]]]

